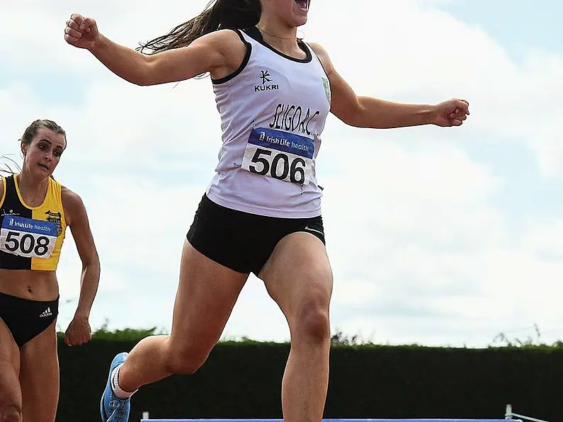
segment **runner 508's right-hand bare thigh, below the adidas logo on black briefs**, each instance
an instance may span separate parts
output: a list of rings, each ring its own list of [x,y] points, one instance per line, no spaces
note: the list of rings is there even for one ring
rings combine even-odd
[[[55,322],[21,347],[23,422],[54,422],[59,402]]]

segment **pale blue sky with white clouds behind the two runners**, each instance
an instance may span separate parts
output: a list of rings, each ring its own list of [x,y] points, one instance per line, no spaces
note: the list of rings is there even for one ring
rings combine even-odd
[[[36,118],[68,148],[55,176],[81,195],[101,257],[94,329],[168,330],[183,239],[217,161],[209,79],[137,87],[64,42],[72,12],[135,47],[205,0],[2,0],[1,153]],[[563,338],[563,45],[549,0],[312,1],[320,42],[360,95],[470,101],[460,128],[359,130],[333,116],[317,161],[334,269],[333,331],[377,343],[487,346]],[[550,28],[549,31],[547,28]],[[555,28],[555,29],[554,29]],[[346,157],[346,159],[345,159]],[[59,265],[66,328],[79,291],[70,232]],[[285,341],[251,277],[225,338]]]

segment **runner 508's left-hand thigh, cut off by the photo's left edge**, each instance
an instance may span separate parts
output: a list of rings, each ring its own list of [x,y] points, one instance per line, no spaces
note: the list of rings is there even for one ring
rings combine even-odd
[[[0,319],[0,409],[21,409],[20,350]]]

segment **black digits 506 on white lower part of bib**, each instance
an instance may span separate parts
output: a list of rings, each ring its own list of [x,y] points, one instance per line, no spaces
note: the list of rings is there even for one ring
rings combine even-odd
[[[266,158],[268,156],[268,158]],[[249,166],[252,173],[261,174],[277,178],[281,181],[286,180],[289,176],[291,183],[305,183],[305,160],[300,157],[290,159],[288,154],[279,152],[272,158],[272,151],[270,149],[257,148],[252,156],[251,161],[255,164],[261,164],[261,169],[256,166]],[[282,163],[282,169],[278,173],[278,167]]]

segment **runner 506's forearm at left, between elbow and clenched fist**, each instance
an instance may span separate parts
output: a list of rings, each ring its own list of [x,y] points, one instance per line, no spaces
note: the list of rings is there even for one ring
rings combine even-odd
[[[149,56],[124,47],[100,34],[90,52],[111,72],[136,85],[149,84]]]

